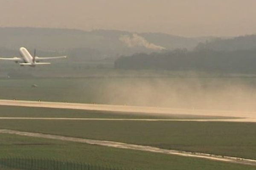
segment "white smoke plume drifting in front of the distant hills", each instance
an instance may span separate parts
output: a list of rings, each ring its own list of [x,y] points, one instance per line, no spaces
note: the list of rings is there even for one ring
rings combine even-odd
[[[141,46],[152,50],[165,50],[166,48],[155,45],[148,42],[144,37],[139,36],[138,34],[133,34],[131,37],[129,35],[122,35],[119,37],[119,40],[125,43],[128,47]]]

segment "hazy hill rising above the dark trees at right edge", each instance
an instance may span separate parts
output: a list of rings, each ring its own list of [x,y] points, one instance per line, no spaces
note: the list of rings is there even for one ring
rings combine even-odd
[[[215,51],[256,49],[256,35],[246,35],[229,39],[216,38],[211,41],[199,43],[195,49],[209,49]]]

